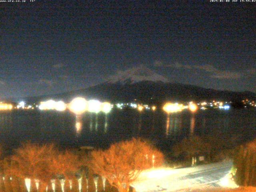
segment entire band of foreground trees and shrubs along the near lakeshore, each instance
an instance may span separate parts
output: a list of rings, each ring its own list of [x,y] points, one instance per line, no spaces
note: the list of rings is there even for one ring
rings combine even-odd
[[[234,159],[236,183],[253,186],[255,148],[256,141],[244,143],[239,136],[190,136],[165,152],[165,164],[181,167]],[[163,162],[162,152],[141,138],[117,142],[106,150],[60,150],[54,144],[25,142],[2,157],[0,192],[134,191],[130,184],[140,172]]]

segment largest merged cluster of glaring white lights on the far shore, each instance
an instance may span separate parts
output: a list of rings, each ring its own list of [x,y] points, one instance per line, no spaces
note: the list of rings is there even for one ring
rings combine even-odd
[[[86,111],[98,113],[104,112],[108,113],[111,110],[111,104],[109,102],[100,102],[98,100],[89,100],[87,101],[85,98],[77,97],[74,98],[70,104],[65,104],[63,101],[54,101],[48,100],[46,102],[41,102],[39,105],[40,110],[57,110],[64,111],[69,109],[71,112],[75,114],[82,114]]]

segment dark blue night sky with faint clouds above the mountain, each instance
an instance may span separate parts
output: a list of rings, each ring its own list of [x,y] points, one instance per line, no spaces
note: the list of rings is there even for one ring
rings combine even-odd
[[[0,98],[86,88],[141,64],[256,92],[256,3],[209,1],[0,2]]]

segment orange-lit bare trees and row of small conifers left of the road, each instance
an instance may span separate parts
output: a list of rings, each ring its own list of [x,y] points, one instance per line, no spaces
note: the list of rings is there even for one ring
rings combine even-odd
[[[162,162],[160,151],[135,138],[92,152],[26,142],[2,160],[0,191],[126,192],[142,170]]]

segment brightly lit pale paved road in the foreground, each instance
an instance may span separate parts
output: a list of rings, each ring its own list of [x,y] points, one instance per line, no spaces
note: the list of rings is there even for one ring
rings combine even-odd
[[[219,187],[220,179],[230,172],[232,162],[190,168],[159,168],[142,172],[134,187],[138,192],[185,192]]]

